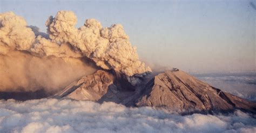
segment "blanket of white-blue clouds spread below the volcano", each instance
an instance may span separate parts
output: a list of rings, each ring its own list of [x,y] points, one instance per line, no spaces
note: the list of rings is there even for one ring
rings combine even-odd
[[[255,115],[181,116],[152,107],[69,99],[0,101],[0,132],[256,132]]]

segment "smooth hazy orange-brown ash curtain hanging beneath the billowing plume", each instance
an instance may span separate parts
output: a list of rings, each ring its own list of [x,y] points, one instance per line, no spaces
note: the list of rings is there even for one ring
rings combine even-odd
[[[22,51],[0,56],[0,92],[47,93],[65,87],[79,77],[95,72],[79,58],[36,57]]]

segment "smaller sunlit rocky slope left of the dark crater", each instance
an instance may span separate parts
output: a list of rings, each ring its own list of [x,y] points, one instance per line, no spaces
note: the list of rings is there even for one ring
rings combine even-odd
[[[66,86],[63,91],[55,94],[53,98],[70,98],[76,100],[97,101],[107,93],[113,84],[114,77],[106,71],[98,70],[92,75],[84,76]]]

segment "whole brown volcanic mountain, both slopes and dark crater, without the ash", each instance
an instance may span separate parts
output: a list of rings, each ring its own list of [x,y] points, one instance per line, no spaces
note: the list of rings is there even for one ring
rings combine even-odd
[[[126,106],[152,106],[180,113],[234,109],[256,113],[256,103],[221,91],[178,69],[160,73],[147,84],[137,86],[129,85],[111,72],[98,70],[76,80],[53,97],[113,101]]]

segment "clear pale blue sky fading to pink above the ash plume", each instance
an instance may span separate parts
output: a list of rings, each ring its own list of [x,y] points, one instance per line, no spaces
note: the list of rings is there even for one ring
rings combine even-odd
[[[256,1],[2,1],[45,32],[59,10],[104,27],[122,24],[141,60],[187,72],[256,71]]]

